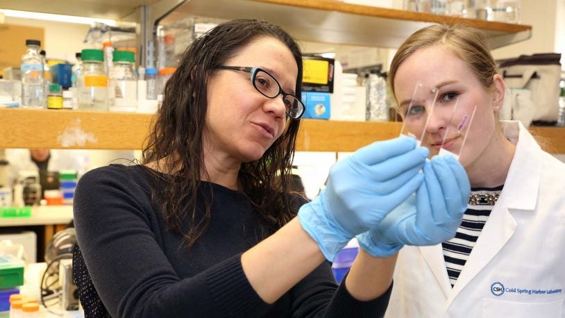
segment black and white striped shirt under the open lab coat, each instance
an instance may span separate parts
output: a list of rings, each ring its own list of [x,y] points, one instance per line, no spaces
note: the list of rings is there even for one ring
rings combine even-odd
[[[457,234],[453,239],[441,243],[451,287],[455,285],[465,262],[469,259],[469,254],[473,251],[475,242],[489,219],[501,190],[503,190],[503,185],[494,188],[472,188],[469,204],[463,215],[463,221],[457,229]]]

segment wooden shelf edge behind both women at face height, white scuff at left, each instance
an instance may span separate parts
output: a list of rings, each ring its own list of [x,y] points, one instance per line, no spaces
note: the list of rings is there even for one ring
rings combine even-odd
[[[0,149],[142,149],[153,115],[0,108]],[[302,119],[297,151],[355,151],[398,136],[398,122]],[[565,153],[565,128],[532,127],[550,153]]]

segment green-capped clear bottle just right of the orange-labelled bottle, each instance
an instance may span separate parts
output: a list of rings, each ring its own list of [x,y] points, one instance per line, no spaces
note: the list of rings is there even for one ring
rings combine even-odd
[[[137,76],[135,54],[131,51],[115,51],[114,67],[110,71],[110,110],[135,112],[137,110]]]

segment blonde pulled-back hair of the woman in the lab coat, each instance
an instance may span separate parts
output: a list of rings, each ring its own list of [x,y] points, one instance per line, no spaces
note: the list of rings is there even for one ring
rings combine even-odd
[[[444,48],[464,60],[484,88],[494,90],[494,75],[498,74],[498,67],[489,51],[487,35],[463,24],[434,24],[412,33],[396,51],[387,78],[390,91],[395,97],[394,77],[398,67],[414,52],[432,46]]]

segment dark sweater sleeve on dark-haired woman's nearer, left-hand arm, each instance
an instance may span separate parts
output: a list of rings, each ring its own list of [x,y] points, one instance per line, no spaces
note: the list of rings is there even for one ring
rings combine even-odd
[[[180,279],[155,240],[146,190],[124,168],[87,172],[76,187],[77,241],[112,317],[253,317],[267,312],[241,255]],[[149,199],[146,199],[149,200]]]

